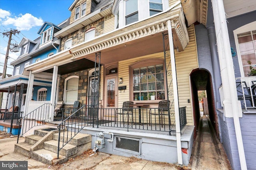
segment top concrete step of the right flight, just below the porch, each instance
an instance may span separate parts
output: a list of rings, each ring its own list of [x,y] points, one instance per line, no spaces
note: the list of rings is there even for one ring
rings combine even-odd
[[[53,134],[53,140],[58,141],[58,135],[59,135],[58,133],[54,133]],[[64,133],[62,132],[62,133],[60,133],[60,141],[63,142],[63,136],[64,136],[64,143],[66,143],[74,135],[75,135],[75,133],[71,132],[71,131],[65,131]],[[91,141],[92,141],[92,136],[91,135],[84,134],[84,133],[78,133],[68,143],[71,144],[71,145],[79,146],[79,145],[89,143]]]

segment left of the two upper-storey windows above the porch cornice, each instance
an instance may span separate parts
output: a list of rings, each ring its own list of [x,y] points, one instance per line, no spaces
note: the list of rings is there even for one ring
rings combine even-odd
[[[125,23],[126,25],[139,20],[138,0],[127,0],[125,2]]]

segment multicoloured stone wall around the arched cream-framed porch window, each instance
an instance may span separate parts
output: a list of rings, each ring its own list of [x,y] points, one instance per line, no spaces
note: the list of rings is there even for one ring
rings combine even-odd
[[[64,100],[64,83],[65,79],[70,76],[79,76],[78,80],[78,101],[80,106],[86,105],[87,103],[87,86],[88,86],[88,70],[81,70],[77,72],[72,72],[68,74],[63,74],[60,76],[60,90],[59,90],[59,100]],[[69,105],[70,106],[70,105]],[[69,107],[68,105],[64,107]]]

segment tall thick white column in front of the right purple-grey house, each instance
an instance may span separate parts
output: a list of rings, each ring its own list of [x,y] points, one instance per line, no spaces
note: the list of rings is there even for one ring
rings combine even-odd
[[[230,50],[230,41],[223,1],[212,0],[212,10],[218,45],[220,74],[224,92],[224,115],[226,117],[233,117],[234,119],[240,165],[242,170],[246,170],[246,159],[244,155],[244,146],[239,122],[239,114],[242,115],[242,109],[237,98],[234,64]]]

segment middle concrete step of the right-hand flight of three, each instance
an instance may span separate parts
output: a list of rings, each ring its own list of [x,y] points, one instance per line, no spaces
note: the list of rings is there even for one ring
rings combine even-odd
[[[62,143],[60,142],[60,147],[62,147],[63,145],[65,145],[66,143]],[[44,142],[44,149],[46,150],[50,150],[54,153],[58,152],[58,141],[55,140],[51,140],[51,141],[46,141]],[[70,145],[70,144],[66,144],[61,150],[60,150],[60,154],[66,157],[70,157],[74,154],[77,153],[77,147],[74,145]]]

